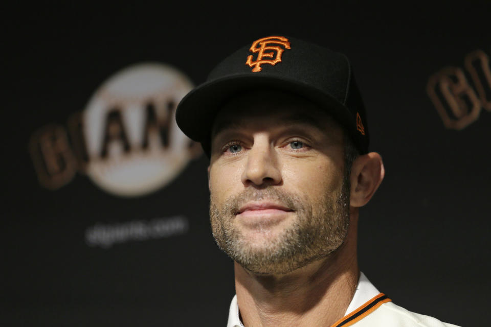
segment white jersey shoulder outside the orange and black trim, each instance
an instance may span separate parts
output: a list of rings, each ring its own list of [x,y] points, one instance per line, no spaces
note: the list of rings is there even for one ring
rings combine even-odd
[[[348,325],[345,325],[346,327]],[[343,327],[345,327],[343,326]],[[457,327],[440,320],[417,314],[388,301],[351,324],[353,327]],[[341,327],[341,326],[340,326]]]

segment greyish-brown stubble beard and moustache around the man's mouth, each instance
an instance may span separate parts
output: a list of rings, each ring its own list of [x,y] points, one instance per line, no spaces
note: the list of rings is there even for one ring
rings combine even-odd
[[[243,268],[255,274],[286,274],[326,258],[344,242],[349,226],[349,181],[337,194],[325,194],[317,203],[308,203],[297,194],[269,186],[245,189],[229,197],[219,208],[210,197],[213,237],[220,249]],[[282,234],[260,247],[252,246],[234,225],[238,208],[249,202],[268,199],[295,211],[296,219]]]

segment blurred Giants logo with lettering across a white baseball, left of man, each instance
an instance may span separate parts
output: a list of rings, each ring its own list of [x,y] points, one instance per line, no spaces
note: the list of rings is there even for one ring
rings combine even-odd
[[[181,72],[157,63],[110,77],[69,119],[70,138],[54,125],[32,135],[29,148],[40,184],[56,190],[79,171],[118,196],[163,187],[201,154],[174,119],[177,103],[192,87]]]

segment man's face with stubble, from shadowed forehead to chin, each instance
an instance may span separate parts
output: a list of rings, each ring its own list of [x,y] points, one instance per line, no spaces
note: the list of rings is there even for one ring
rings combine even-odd
[[[284,274],[325,258],[347,233],[343,132],[314,104],[280,92],[227,103],[215,120],[210,218],[242,267]]]

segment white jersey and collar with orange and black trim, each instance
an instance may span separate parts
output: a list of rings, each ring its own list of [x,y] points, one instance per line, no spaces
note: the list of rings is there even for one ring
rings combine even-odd
[[[410,312],[380,293],[361,273],[358,286],[346,314],[331,327],[458,327],[450,323]],[[230,304],[227,327],[243,327],[239,318],[237,296]]]

